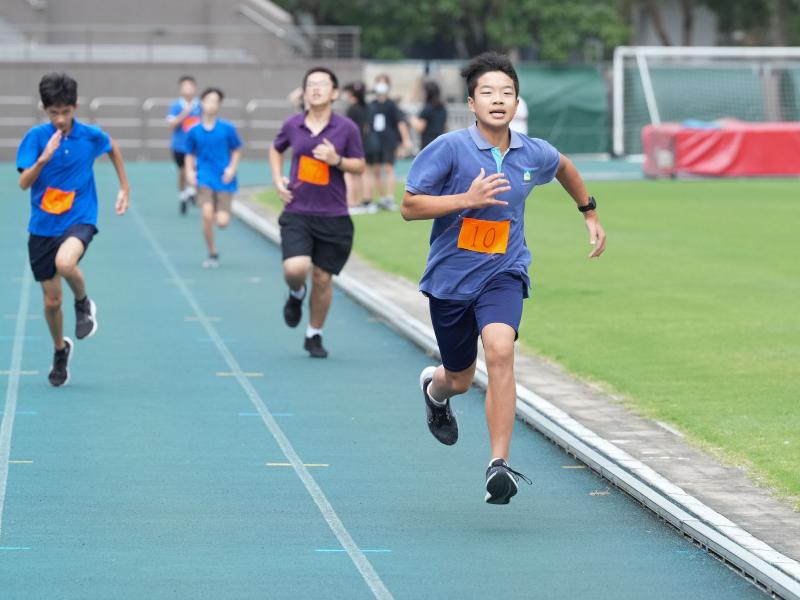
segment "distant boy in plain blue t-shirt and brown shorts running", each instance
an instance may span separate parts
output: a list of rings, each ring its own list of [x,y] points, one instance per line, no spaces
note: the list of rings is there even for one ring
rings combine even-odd
[[[233,194],[238,190],[236,169],[242,155],[242,140],[236,127],[217,118],[224,97],[218,88],[203,92],[202,118],[186,139],[186,179],[197,186],[197,205],[202,211],[203,235],[208,246],[208,258],[203,261],[207,269],[219,266],[214,221],[221,229],[230,223]]]

